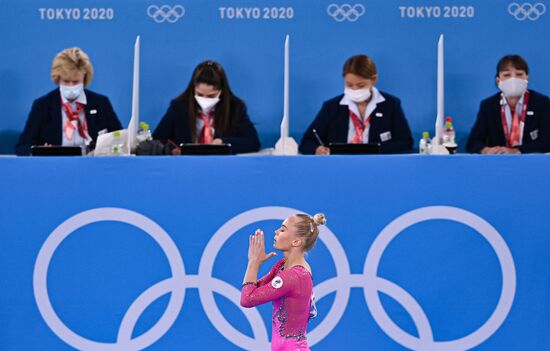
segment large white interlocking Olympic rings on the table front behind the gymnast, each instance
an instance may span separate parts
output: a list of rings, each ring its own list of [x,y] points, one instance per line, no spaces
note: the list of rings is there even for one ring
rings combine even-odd
[[[216,256],[224,243],[240,229],[264,220],[282,220],[302,212],[287,207],[261,207],[246,211],[226,222],[210,239],[200,260],[197,275],[185,273],[183,259],[172,238],[151,219],[121,208],[98,208],[81,212],[59,225],[46,239],[36,259],[33,275],[35,300],[42,318],[50,329],[70,346],[84,351],[138,351],[158,341],[176,321],[188,288],[199,291],[201,305],[214,327],[230,342],[248,350],[269,349],[269,337],[257,309],[240,307],[240,290],[232,284],[212,276]],[[496,253],[501,266],[502,290],[494,312],[489,319],[471,334],[451,341],[435,341],[430,322],[422,307],[403,288],[378,276],[382,255],[391,241],[403,230],[429,220],[450,220],[467,225],[481,234]],[[51,304],[48,289],[48,267],[59,245],[71,233],[91,223],[116,221],[133,225],[150,235],[168,259],[172,276],[146,289],[125,313],[117,340],[114,343],[87,339],[69,329],[59,318]],[[336,292],[334,302],[321,323],[308,333],[311,346],[315,345],[338,325],[348,305],[351,288],[361,288],[367,307],[379,327],[395,342],[416,351],[465,351],[483,343],[502,325],[513,304],[516,290],[516,270],[512,254],[504,239],[481,217],[456,207],[432,206],[407,212],[390,224],[376,237],[367,253],[363,273],[352,274],[344,249],[332,231],[324,226],[319,240],[327,247],[336,266],[336,277],[314,287],[317,300]],[[216,305],[213,293],[225,296],[240,308],[252,327],[253,337],[241,333],[223,316]],[[418,336],[402,330],[386,313],[379,293],[384,293],[400,303],[410,314]],[[154,326],[132,338],[141,314],[158,298],[170,294],[165,312]]]

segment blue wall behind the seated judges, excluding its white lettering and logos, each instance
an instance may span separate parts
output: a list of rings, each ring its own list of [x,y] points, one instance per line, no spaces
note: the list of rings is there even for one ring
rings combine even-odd
[[[283,43],[291,35],[291,134],[299,142],[321,104],[343,91],[344,61],[357,53],[372,56],[381,90],[402,99],[415,140],[433,133],[436,115],[437,40],[445,34],[446,115],[454,117],[464,146],[481,99],[497,92],[495,67],[505,54],[523,55],[529,86],[550,91],[549,14],[518,21],[508,12],[513,1],[350,1],[363,4],[356,22],[327,14],[335,0],[186,0],[0,2],[0,153],[13,153],[32,101],[55,86],[53,57],[80,46],[94,64],[90,89],[110,97],[123,125],[131,113],[133,45],[142,37],[141,119],[156,127],[171,99],[179,95],[193,68],[214,59],[226,68],[234,92],[248,104],[263,147],[277,140],[283,113]],[[547,1],[525,1],[530,4]],[[523,4],[524,2],[520,1]],[[150,5],[181,4],[176,23],[156,23]],[[402,18],[401,6],[474,8],[466,18]],[[220,7],[291,7],[293,18],[222,19]],[[111,8],[113,20],[41,19],[40,8]],[[427,14],[424,8],[424,15]]]

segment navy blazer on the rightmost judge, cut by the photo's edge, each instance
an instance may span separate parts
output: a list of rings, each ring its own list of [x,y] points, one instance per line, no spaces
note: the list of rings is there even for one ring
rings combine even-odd
[[[466,144],[468,152],[480,153],[486,146],[506,146],[500,99],[498,93],[481,102]],[[550,100],[534,90],[529,90],[523,138],[518,149],[521,153],[550,152]]]

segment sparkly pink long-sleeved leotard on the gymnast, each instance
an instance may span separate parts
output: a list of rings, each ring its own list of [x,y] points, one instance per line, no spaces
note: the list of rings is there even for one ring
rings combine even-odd
[[[309,351],[306,328],[311,317],[313,281],[302,266],[284,269],[284,259],[256,284],[245,284],[241,305],[254,307],[273,301],[272,351]]]

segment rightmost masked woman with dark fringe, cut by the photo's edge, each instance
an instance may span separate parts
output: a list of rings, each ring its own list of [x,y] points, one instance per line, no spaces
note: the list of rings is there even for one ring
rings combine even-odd
[[[482,154],[550,151],[550,100],[527,89],[529,67],[519,55],[497,64],[497,93],[481,102],[467,150]]]

